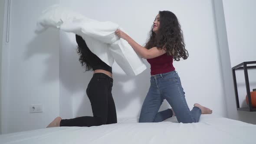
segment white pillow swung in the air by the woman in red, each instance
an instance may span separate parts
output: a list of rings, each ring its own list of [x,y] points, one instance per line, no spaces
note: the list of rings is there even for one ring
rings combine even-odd
[[[37,21],[36,33],[41,33],[48,27],[82,36],[96,56],[109,66],[113,65],[115,59],[127,75],[138,75],[147,68],[127,41],[115,35],[115,31],[120,28],[116,23],[92,20],[54,5],[43,11]]]

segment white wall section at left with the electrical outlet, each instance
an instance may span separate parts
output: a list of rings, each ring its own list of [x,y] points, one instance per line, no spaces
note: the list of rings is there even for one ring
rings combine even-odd
[[[36,35],[36,19],[59,0],[12,0],[3,44],[3,133],[45,128],[59,115],[59,31]],[[6,30],[6,29],[5,29]],[[29,113],[42,104],[43,113]]]

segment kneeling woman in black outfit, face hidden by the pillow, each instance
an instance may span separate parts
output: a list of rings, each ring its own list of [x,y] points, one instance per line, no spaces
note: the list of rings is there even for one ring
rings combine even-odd
[[[77,52],[80,55],[79,62],[85,66],[85,71],[94,71],[86,93],[92,105],[91,116],[83,116],[72,119],[55,118],[48,126],[78,126],[90,127],[102,124],[117,123],[115,102],[112,97],[112,67],[93,54],[81,36],[75,35],[78,44]]]

